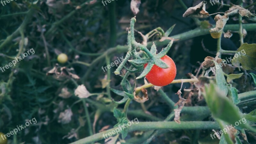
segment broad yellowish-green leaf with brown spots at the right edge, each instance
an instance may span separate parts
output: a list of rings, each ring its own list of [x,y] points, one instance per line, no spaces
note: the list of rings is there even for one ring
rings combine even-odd
[[[244,43],[238,48],[238,53],[232,59],[232,64],[240,66],[246,70],[256,69],[256,44]]]

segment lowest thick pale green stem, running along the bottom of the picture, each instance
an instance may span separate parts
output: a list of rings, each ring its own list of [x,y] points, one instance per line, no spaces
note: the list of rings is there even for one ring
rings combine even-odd
[[[149,131],[149,130],[199,130],[199,129],[205,129],[205,130],[212,130],[212,129],[220,129],[219,125],[216,122],[197,122],[197,121],[190,121],[190,122],[181,122],[180,124],[177,124],[176,122],[140,122],[138,124],[132,124],[128,128],[126,128],[128,132],[132,131]],[[96,133],[92,136],[86,137],[81,140],[77,140],[71,144],[91,144],[95,141],[104,139],[103,134],[106,134],[108,132],[111,132],[115,130],[115,128],[109,129],[107,131]],[[115,136],[116,134],[112,135]]]

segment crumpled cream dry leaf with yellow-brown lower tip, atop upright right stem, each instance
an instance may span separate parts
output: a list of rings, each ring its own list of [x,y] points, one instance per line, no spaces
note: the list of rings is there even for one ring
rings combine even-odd
[[[223,28],[228,21],[228,16],[221,16],[220,14],[217,14],[214,20],[216,21],[216,27],[211,28],[210,34],[212,38],[220,38],[220,36],[222,35]]]

